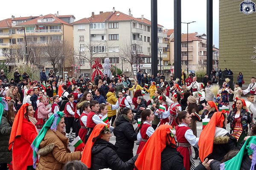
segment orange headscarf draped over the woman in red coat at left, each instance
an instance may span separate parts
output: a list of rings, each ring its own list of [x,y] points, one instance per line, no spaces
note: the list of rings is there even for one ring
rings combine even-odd
[[[15,116],[15,119],[12,125],[11,136],[9,139],[9,150],[12,149],[12,143],[14,142],[15,138],[21,136],[23,118],[24,118],[24,114],[26,113],[26,108],[28,106],[29,106],[29,103],[25,103],[24,105],[22,105],[20,107],[20,110]]]

